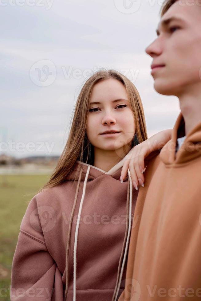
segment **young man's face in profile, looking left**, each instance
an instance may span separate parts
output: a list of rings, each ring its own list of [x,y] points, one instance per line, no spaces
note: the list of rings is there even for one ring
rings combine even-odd
[[[179,96],[201,85],[201,1],[176,1],[162,16],[157,36],[146,49],[156,91]]]

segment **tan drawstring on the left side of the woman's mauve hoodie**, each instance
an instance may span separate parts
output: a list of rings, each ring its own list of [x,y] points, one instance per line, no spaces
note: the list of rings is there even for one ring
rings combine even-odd
[[[68,285],[69,285],[68,257],[69,257],[69,244],[70,244],[71,226],[72,226],[75,206],[76,206],[76,203],[77,203],[77,195],[78,195],[78,191],[79,191],[79,187],[80,187],[81,176],[82,176],[83,170],[84,170],[84,168],[81,166],[81,171],[80,171],[80,175],[79,175],[79,178],[78,178],[77,188],[76,188],[76,193],[75,193],[75,198],[74,198],[74,203],[73,203],[73,209],[72,209],[72,212],[71,212],[70,222],[69,222],[69,232],[68,232],[68,240],[67,240],[67,246],[66,246],[66,258],[65,258],[65,266],[66,266],[66,280],[65,280],[65,283],[66,283],[66,285],[65,285],[65,299],[64,299],[64,301],[66,301],[66,298],[67,298]]]

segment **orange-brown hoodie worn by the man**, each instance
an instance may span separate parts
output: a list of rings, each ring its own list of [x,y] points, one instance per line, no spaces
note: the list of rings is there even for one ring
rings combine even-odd
[[[201,123],[184,135],[180,113],[144,173],[119,301],[201,300]]]

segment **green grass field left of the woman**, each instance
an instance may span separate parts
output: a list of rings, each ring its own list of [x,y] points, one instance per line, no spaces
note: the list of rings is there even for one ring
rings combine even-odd
[[[0,175],[0,299],[10,301],[10,276],[19,227],[27,201],[49,175]]]

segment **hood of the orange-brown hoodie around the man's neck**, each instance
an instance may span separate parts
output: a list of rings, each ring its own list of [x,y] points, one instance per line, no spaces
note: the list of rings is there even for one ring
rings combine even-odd
[[[197,124],[175,153],[177,138],[185,136],[185,122],[182,113],[179,114],[172,130],[171,139],[160,151],[160,159],[165,165],[186,164],[201,156],[201,123]]]

